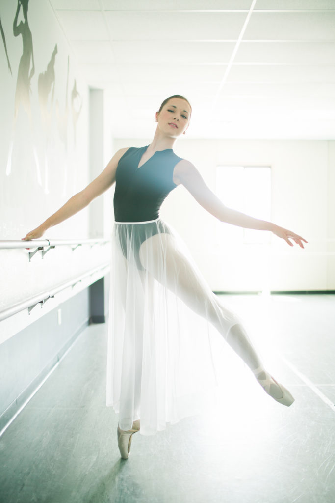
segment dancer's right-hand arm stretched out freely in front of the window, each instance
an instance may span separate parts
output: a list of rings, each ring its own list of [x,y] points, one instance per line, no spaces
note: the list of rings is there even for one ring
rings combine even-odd
[[[303,248],[302,241],[307,242],[303,237],[291,232],[288,229],[279,227],[278,225],[253,218],[245,213],[228,208],[215,196],[215,194],[204,183],[200,173],[196,170],[195,166],[183,159],[174,169],[173,181],[179,185],[182,184],[194,197],[194,199],[214,217],[218,218],[221,222],[227,222],[239,227],[257,230],[270,230],[278,237],[285,239],[285,241],[293,246],[289,240],[292,238],[301,248]]]

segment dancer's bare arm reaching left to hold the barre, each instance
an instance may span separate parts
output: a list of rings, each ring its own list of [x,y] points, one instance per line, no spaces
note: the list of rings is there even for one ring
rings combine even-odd
[[[78,211],[85,208],[93,199],[106,191],[115,182],[115,175],[118,167],[118,162],[127,148],[122,148],[110,159],[105,169],[93,182],[85,189],[71,197],[59,210],[47,218],[39,227],[28,232],[23,238],[25,240],[37,239],[45,233],[47,229],[57,225],[63,220],[71,217]]]

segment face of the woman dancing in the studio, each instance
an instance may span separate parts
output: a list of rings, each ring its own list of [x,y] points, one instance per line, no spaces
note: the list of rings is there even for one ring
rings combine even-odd
[[[176,137],[185,134],[191,115],[191,107],[181,98],[171,98],[160,113],[156,112],[159,128]]]

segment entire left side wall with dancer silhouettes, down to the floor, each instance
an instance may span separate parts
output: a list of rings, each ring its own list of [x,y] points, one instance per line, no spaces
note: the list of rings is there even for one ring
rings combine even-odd
[[[17,6],[20,10],[15,21]],[[88,162],[86,82],[50,3],[30,0],[28,6],[25,13],[16,1],[0,5],[11,66],[10,70],[1,37],[0,240],[24,237],[94,176]],[[14,36],[13,24],[18,32],[24,29],[23,35]],[[102,100],[100,105],[95,126],[102,136]],[[103,148],[102,141],[100,152],[96,149],[91,159],[91,166],[99,164],[98,171],[103,167]],[[85,209],[46,231],[44,237],[100,237],[100,222],[104,222],[101,202],[98,218],[90,220],[89,209]],[[24,248],[0,249],[0,311],[65,282],[72,283],[109,260],[108,245],[83,245],[75,250],[60,246],[49,250],[43,259],[38,251],[31,262]],[[98,279],[96,276],[69,286],[47,300],[43,308],[37,305],[31,313],[25,309],[0,322],[0,425],[10,420],[88,323],[87,286]]]

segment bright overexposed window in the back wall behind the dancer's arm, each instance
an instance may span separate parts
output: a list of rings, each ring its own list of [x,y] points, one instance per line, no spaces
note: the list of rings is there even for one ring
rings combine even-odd
[[[217,166],[216,195],[225,206],[255,218],[271,220],[271,169]],[[224,236],[224,240],[231,239],[232,244],[266,243],[270,242],[270,238],[269,232],[243,229],[235,225],[227,225]]]

